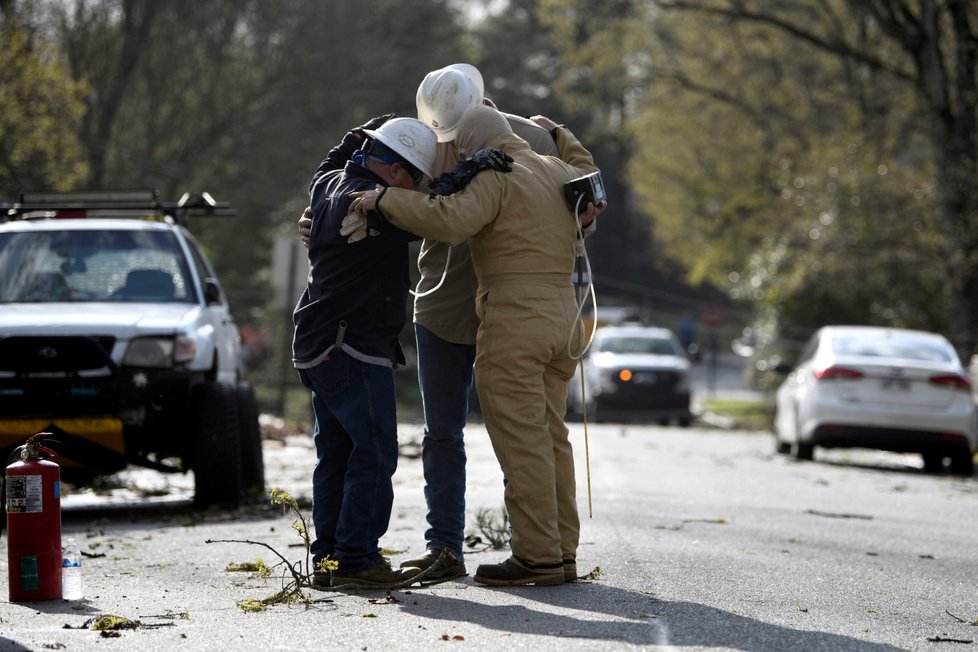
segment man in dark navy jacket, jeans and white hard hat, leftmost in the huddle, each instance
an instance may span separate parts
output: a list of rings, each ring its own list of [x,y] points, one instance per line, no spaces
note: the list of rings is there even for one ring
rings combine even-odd
[[[436,137],[412,118],[373,122],[365,127],[382,124],[347,134],[313,177],[309,280],[293,315],[293,362],[316,415],[313,581],[389,588],[420,572],[393,570],[378,549],[393,502],[393,368],[403,362],[398,334],[410,284],[408,242],[417,237],[343,224],[351,192],[378,185],[418,190],[425,175],[433,176]],[[324,560],[338,564],[331,575]]]

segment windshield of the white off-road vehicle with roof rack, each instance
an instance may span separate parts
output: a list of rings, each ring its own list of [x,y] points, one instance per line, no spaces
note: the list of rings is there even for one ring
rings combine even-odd
[[[0,303],[194,302],[176,238],[132,230],[0,234]]]

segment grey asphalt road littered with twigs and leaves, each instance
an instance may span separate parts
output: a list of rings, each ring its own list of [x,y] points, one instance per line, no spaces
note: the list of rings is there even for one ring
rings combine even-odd
[[[579,466],[579,571],[557,587],[490,589],[471,577],[430,588],[308,592],[308,603],[248,613],[280,587],[227,572],[274,560],[255,541],[302,558],[293,517],[277,509],[195,512],[189,478],[65,500],[86,599],[0,601],[0,650],[966,650],[978,647],[978,478],[925,475],[919,460],[816,451],[773,454],[769,435],[592,425]],[[382,545],[421,551],[420,460],[405,426],[394,515]],[[469,528],[502,505],[485,431],[468,432]],[[269,486],[308,499],[311,441],[266,442]],[[590,473],[586,462],[589,457]],[[591,496],[589,515],[588,475]],[[148,494],[165,494],[149,496]],[[107,503],[120,503],[106,509]],[[97,509],[93,509],[93,505]],[[139,508],[139,505],[148,507]],[[7,577],[6,537],[0,581]],[[473,549],[470,574],[506,551]],[[6,598],[3,591],[3,598]],[[138,621],[104,638],[99,615]]]

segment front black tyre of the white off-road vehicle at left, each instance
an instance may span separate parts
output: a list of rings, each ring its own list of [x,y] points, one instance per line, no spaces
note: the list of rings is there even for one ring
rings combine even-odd
[[[194,502],[198,507],[241,504],[241,435],[237,390],[227,383],[208,382],[194,388]]]

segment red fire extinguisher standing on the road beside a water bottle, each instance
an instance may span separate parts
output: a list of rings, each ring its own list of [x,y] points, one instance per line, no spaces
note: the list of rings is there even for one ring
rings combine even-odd
[[[11,602],[61,599],[61,467],[43,459],[56,453],[41,444],[50,434],[28,439],[7,467]]]

